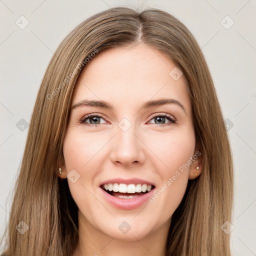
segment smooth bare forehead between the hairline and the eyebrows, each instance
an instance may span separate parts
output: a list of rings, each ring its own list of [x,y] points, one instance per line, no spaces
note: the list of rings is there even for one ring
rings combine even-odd
[[[182,75],[173,79],[173,68],[177,67],[170,58],[144,43],[107,49],[95,55],[81,71],[72,104],[86,98],[121,107],[174,98],[189,111],[185,79]]]

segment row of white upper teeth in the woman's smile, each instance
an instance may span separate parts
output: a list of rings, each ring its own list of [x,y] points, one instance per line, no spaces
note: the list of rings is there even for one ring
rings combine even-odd
[[[123,183],[108,183],[103,185],[106,190],[121,192],[121,193],[135,193],[150,191],[152,186],[147,184],[123,184]]]

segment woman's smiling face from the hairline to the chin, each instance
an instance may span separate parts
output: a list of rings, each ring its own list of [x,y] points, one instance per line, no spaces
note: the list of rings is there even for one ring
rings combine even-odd
[[[198,165],[191,105],[180,75],[169,58],[143,43],[98,53],[80,73],[62,166],[79,228],[120,240],[167,233]],[[104,184],[114,192],[106,192]]]

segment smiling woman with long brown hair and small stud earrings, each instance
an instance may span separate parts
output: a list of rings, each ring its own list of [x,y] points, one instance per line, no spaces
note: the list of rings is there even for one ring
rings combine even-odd
[[[47,67],[4,255],[230,255],[232,194],[194,37],[164,11],[111,8],[71,31]]]

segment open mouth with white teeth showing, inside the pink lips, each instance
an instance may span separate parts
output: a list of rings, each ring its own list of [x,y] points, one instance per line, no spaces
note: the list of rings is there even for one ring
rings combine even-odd
[[[102,188],[105,192],[113,197],[130,199],[150,192],[154,188],[154,185],[143,183],[107,183],[100,185],[100,188]]]

